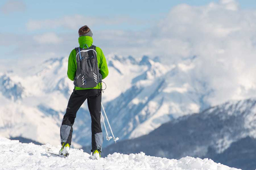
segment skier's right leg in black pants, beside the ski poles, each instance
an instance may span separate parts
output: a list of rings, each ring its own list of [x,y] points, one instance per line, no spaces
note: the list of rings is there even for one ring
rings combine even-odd
[[[91,89],[87,103],[92,119],[92,152],[97,149],[101,151],[103,143],[103,134],[100,125],[101,90]]]

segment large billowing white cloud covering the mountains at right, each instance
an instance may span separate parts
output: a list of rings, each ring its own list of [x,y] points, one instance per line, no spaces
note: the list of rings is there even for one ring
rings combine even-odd
[[[183,4],[173,8],[158,28],[157,37],[166,43],[156,41],[155,47],[168,44],[170,48],[164,49],[176,53],[169,55],[169,61],[197,56],[188,74],[214,90],[208,99],[211,104],[256,96],[254,11],[238,9],[233,0],[200,7]],[[174,38],[179,46],[167,43]]]

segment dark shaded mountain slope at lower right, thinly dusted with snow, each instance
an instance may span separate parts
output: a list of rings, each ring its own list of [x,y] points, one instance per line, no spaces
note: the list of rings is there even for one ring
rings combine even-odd
[[[255,169],[252,148],[247,152],[248,149],[244,147],[249,143],[246,142],[248,139],[244,140],[246,137],[256,138],[256,99],[230,101],[198,114],[180,117],[161,125],[148,135],[110,145],[104,153],[145,152],[147,155],[169,159],[184,156],[211,158],[224,164],[236,163],[229,166],[239,165],[249,170],[248,166],[253,165]],[[243,158],[236,156],[239,151],[239,154],[243,153]],[[243,163],[244,159],[248,161]]]

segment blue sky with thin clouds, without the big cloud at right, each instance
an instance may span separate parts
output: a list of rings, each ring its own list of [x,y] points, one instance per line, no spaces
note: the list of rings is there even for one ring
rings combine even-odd
[[[38,55],[44,55],[44,58],[66,56],[73,47],[78,45],[77,30],[83,25],[88,25],[92,29],[94,42],[99,44],[106,54],[157,55],[146,51],[137,52],[125,47],[132,46],[133,40],[124,42],[122,41],[124,37],[120,35],[132,34],[130,37],[136,37],[136,34],[145,34],[147,36],[147,32],[156,29],[161,20],[166,18],[177,5],[188,4],[196,7],[219,2],[219,0],[110,0],[81,3],[81,1],[58,0],[2,0],[0,21],[4,24],[0,27],[0,50],[2,51],[0,60],[31,59],[34,57],[31,50],[37,51]],[[254,0],[237,0],[236,4],[241,10],[256,9]],[[114,32],[115,35],[113,35]],[[108,36],[112,34],[113,37],[106,38],[107,36],[103,34]],[[111,41],[121,46],[116,47],[116,44],[111,46]],[[15,54],[9,55],[7,59],[6,55],[13,53],[14,48],[19,49],[19,55],[14,52]],[[53,49],[59,49],[62,52],[57,53]]]

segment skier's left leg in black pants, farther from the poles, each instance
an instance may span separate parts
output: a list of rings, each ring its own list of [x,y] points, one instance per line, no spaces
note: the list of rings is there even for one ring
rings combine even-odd
[[[63,117],[60,127],[61,143],[65,142],[71,144],[73,124],[76,118],[76,112],[86,100],[86,93],[84,90],[74,90],[68,100],[66,114]]]

